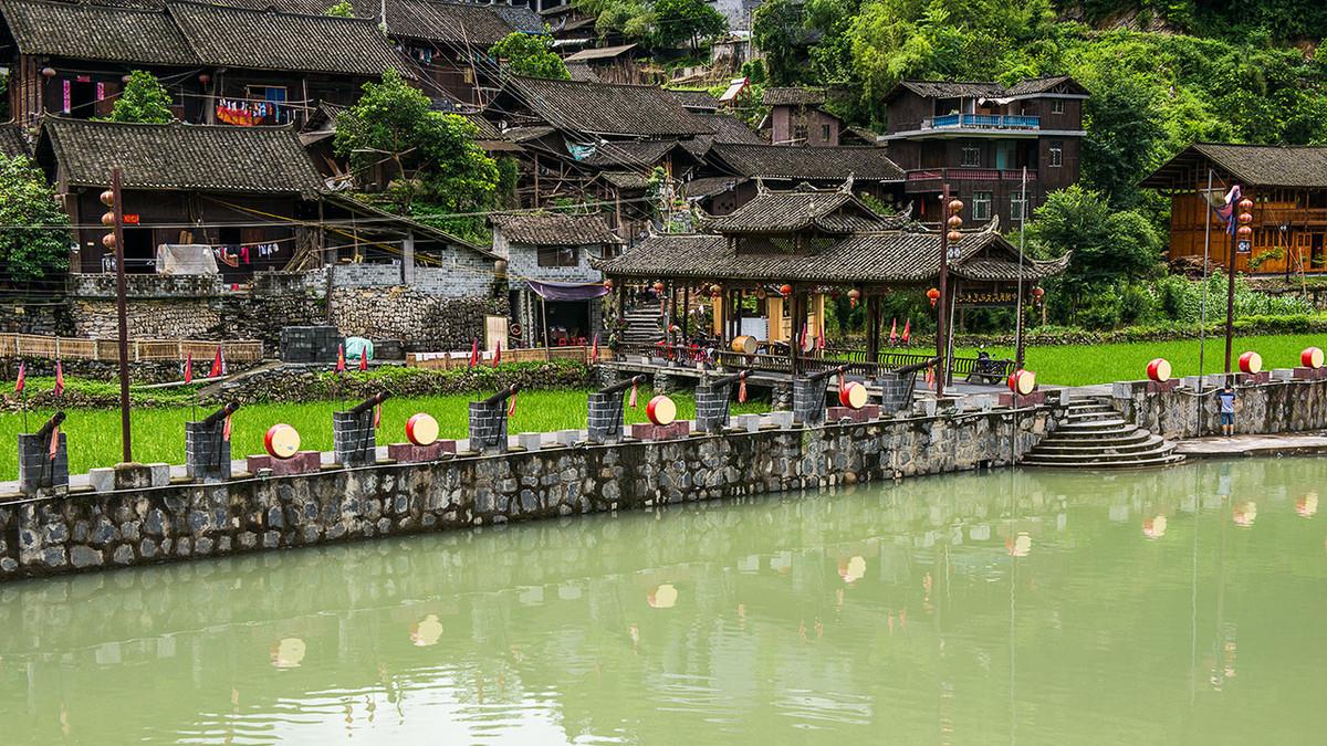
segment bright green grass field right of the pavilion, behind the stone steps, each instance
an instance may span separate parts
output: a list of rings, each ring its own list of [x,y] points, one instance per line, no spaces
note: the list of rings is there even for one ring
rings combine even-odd
[[[1225,369],[1225,338],[1208,337],[1205,346],[1204,372],[1220,373]],[[1269,370],[1292,368],[1299,365],[1299,353],[1306,346],[1327,349],[1327,337],[1322,335],[1235,337],[1234,357],[1254,350],[1262,356],[1262,365]],[[1013,348],[987,348],[987,352],[993,357],[1014,357]],[[962,350],[961,354],[975,354],[975,350]],[[1028,348],[1024,366],[1036,372],[1040,384],[1079,386],[1147,378],[1147,365],[1153,357],[1169,360],[1176,378],[1198,374],[1198,340]]]

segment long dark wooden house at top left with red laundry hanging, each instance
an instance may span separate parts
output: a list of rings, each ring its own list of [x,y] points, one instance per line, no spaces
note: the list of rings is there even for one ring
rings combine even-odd
[[[0,15],[20,123],[106,117],[135,69],[165,81],[178,118],[243,126],[303,119],[320,100],[349,104],[389,68],[414,78],[366,19],[175,0],[0,0]]]

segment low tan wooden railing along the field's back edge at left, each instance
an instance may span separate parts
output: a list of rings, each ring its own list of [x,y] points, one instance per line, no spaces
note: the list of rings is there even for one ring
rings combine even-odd
[[[263,342],[257,340],[129,340],[129,360],[134,362],[186,360],[192,354],[195,361],[206,361],[216,354],[218,345],[222,346],[222,356],[226,360],[263,360]],[[61,360],[114,362],[119,360],[119,346],[115,340],[0,335],[0,357],[44,357],[49,360],[60,357]]]

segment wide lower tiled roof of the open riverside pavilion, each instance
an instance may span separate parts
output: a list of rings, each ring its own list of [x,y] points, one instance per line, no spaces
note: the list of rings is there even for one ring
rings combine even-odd
[[[950,272],[971,280],[1016,279],[1018,252],[995,223],[965,234]],[[1023,277],[1063,271],[1056,261],[1026,261]],[[940,234],[910,227],[856,234],[817,254],[754,254],[715,234],[652,235],[618,258],[593,261],[610,276],[714,280],[812,281],[828,284],[929,281],[940,275]]]

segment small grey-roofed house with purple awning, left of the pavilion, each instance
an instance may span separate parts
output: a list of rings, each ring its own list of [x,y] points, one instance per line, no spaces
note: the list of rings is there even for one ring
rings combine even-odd
[[[500,214],[490,218],[494,251],[507,259],[512,317],[525,346],[584,344],[601,327],[606,295],[592,259],[622,243],[598,215]],[[512,336],[516,336],[515,333]]]

